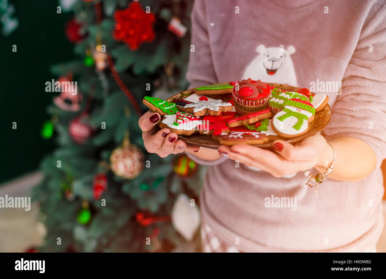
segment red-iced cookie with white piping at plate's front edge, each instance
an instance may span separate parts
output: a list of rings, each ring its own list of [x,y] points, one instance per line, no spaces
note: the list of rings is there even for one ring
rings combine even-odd
[[[217,140],[222,145],[235,145],[237,143],[246,143],[249,145],[261,145],[262,143],[267,143],[269,138],[265,134],[256,133],[256,132],[239,132],[239,131],[230,131],[229,134],[222,133],[218,136]]]

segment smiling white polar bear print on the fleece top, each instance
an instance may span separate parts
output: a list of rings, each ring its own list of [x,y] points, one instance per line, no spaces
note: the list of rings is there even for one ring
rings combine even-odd
[[[295,47],[265,47],[259,45],[256,48],[259,53],[249,63],[241,79],[261,79],[262,82],[274,82],[298,87],[295,68],[291,54],[295,53]]]

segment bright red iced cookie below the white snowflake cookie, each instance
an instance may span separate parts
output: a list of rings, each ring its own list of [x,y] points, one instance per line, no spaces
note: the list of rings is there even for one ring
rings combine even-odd
[[[226,112],[218,116],[204,116],[203,124],[198,126],[200,134],[218,136],[221,133],[229,133],[229,127],[225,123],[234,118],[235,115],[234,112]]]

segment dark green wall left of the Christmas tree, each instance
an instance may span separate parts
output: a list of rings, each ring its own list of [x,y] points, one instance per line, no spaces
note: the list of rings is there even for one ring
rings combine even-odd
[[[9,0],[19,27],[8,37],[0,34],[0,182],[36,170],[41,158],[54,148],[54,140],[40,136],[49,119],[46,106],[54,94],[45,82],[56,79],[49,67],[74,59],[73,44],[64,34],[71,13],[56,13],[55,0]],[[17,52],[12,52],[17,45]],[[12,122],[17,129],[12,129]]]

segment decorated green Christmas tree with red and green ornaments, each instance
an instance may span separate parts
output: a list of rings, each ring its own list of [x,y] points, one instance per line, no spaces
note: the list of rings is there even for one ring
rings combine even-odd
[[[78,59],[52,66],[58,79],[46,84],[54,93],[42,136],[58,148],[34,189],[47,229],[39,250],[169,252],[193,238],[204,170],[185,155],[146,153],[138,126],[144,96],[188,85],[192,2],[59,1],[58,13],[74,13],[64,33]]]

